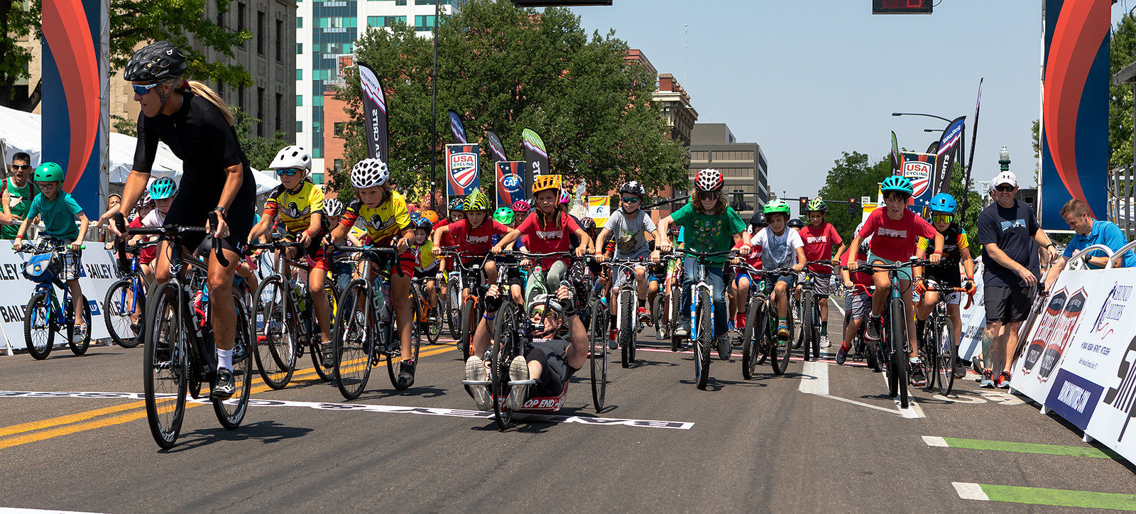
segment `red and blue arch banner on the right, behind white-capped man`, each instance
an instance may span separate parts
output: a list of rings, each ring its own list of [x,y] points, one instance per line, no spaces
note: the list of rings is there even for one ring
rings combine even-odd
[[[1106,218],[1111,23],[1109,1],[1045,0],[1042,229],[1068,230],[1060,212],[1072,198]]]

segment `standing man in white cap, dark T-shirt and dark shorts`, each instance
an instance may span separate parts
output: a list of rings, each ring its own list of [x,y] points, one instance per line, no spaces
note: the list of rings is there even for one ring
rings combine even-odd
[[[1055,247],[1029,205],[1014,199],[1018,177],[1002,172],[991,182],[994,202],[978,215],[978,243],[983,244],[983,295],[986,337],[993,340],[984,353],[984,388],[1009,388],[1010,366],[1018,347],[1018,325],[1029,317],[1033,289],[1041,276],[1041,259],[1052,260]],[[1035,249],[1035,244],[1041,251]],[[1041,255],[1038,255],[1041,254]],[[1000,373],[995,378],[994,370]]]

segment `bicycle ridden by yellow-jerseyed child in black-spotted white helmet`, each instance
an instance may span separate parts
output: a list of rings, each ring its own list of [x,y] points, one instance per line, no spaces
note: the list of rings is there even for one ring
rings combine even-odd
[[[360,252],[362,258],[357,264],[359,277],[352,279],[336,300],[335,322],[332,323],[333,354],[335,355],[335,386],[343,398],[359,398],[367,388],[370,368],[386,360],[386,373],[391,386],[396,390],[407,389],[398,379],[395,365],[402,360],[417,360],[421,345],[421,332],[417,321],[420,308],[415,305],[414,296],[403,298],[410,302],[410,355],[402,355],[402,341],[394,330],[395,315],[392,304],[391,287],[387,280],[389,271],[376,273],[370,282],[371,259],[386,255],[394,260],[394,270],[403,276],[402,259],[391,247],[351,247],[335,244],[337,251]]]

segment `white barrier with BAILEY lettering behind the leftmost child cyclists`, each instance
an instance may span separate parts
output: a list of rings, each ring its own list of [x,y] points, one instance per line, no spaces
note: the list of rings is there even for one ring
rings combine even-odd
[[[5,354],[26,348],[24,340],[24,308],[35,291],[35,283],[25,279],[22,270],[30,254],[12,251],[11,244],[0,243],[0,332],[3,343],[0,348]],[[83,296],[91,305],[91,339],[107,339],[107,324],[102,320],[102,300],[107,290],[118,280],[118,267],[110,251],[102,249],[100,242],[87,242],[83,250],[83,273],[80,285]],[[59,299],[62,291],[56,290]],[[66,335],[56,335],[56,346],[66,345]]]

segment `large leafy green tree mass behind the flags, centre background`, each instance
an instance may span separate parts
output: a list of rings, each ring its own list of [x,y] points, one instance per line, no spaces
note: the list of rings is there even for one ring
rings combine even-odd
[[[521,131],[544,140],[552,172],[592,192],[634,177],[649,190],[685,185],[688,157],[669,139],[669,127],[651,93],[655,77],[625,60],[628,45],[613,32],[591,38],[567,9],[537,13],[508,0],[471,0],[438,26],[438,147],[431,148],[432,43],[406,25],[368,30],[356,55],[383,80],[389,100],[392,180],[404,191],[429,183],[432,151],[444,182],[443,144],[451,140],[445,109],[462,114],[470,140],[495,131],[512,159],[521,156]],[[364,158],[360,89],[354,69],[345,71],[339,98],[351,115],[343,139],[344,169]],[[482,167],[492,192],[492,163]],[[343,173],[329,172],[349,186]],[[492,194],[491,194],[492,197]]]

